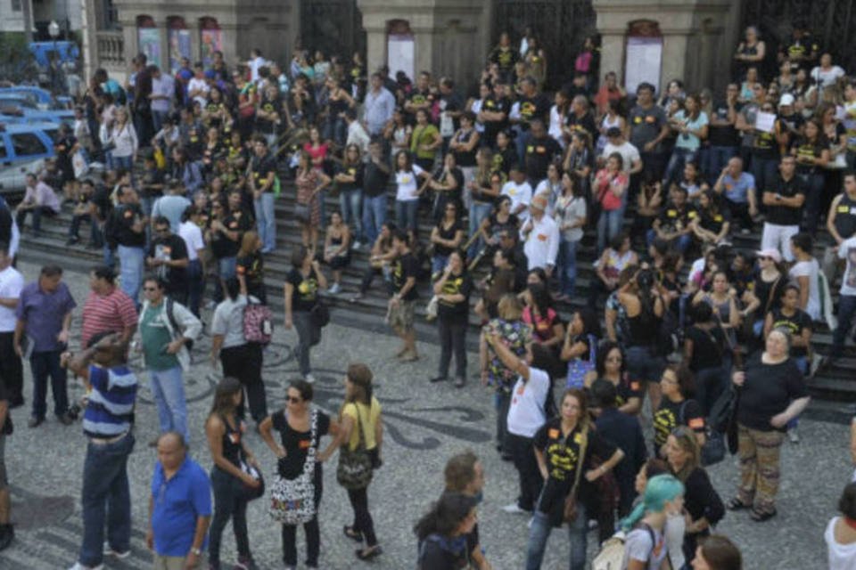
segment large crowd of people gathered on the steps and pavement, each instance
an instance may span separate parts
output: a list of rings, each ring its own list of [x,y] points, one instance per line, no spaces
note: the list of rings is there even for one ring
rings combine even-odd
[[[284,65],[255,50],[227,69],[216,53],[209,69],[184,60],[175,74],[141,54],[124,86],[99,69],[57,158],[29,176],[20,205],[0,208],[0,401],[23,404],[23,358],[30,428],[45,421],[48,379],[66,425],[79,413],[67,371],[88,390],[75,570],[129,550],[129,350],[142,354],[159,422],[148,442],[158,453],[147,536],[156,567],[221,567],[230,519],[235,567],[256,567],[246,508],[262,494],[282,524],[285,566],[297,564],[302,525],[306,565],[317,567],[321,468],[337,449],[354,510],[343,533],[364,543],[358,558],[382,553],[366,493],[383,442],[371,371],[349,366],[336,416],[311,403],[325,297],[342,294],[358,255],[368,265],[350,301],[382,276],[400,362],[420,358],[416,305],[428,293],[441,348],[431,382],[465,387],[467,334],[481,326],[477,376],[495,391],[497,452],[519,478],[505,510],[531,517],[528,570],[563,523],[570,567],[581,570],[589,521],[599,542],[626,533],[624,568],[741,568],[712,529],[727,509],[759,523],[777,515],[779,454],[786,439],[800,441],[806,379],[835,365],[856,315],[856,77],[833,55],[800,26],[767,53],[749,28],[723,93],[687,92],[675,79],[662,94],[649,83],[629,94],[612,72],[598,85],[591,38],[567,83],[549,85],[552,98],[546,69],[559,63],[531,34],[520,45],[500,38],[469,98],[450,77],[369,75],[358,54],[328,60],[300,48]],[[78,157],[103,174],[76,174]],[[288,219],[276,208],[283,192],[293,192]],[[103,251],[73,353],[76,302],[62,268],[46,265],[25,285],[12,267],[27,215],[38,235],[63,202],[69,247],[88,224],[86,245]],[[284,227],[294,245],[280,318],[296,330],[301,379],[271,414],[265,261],[283,251]],[[740,247],[759,231],[760,248]],[[839,279],[836,320],[829,289]],[[208,310],[211,363],[223,375],[204,426],[210,476],[186,455],[195,432],[183,379]],[[812,345],[819,326],[834,331],[825,359]],[[250,420],[279,461],[267,491],[243,436]],[[740,483],[723,501],[705,466],[727,446]],[[446,493],[415,526],[419,567],[503,567],[479,546],[481,461],[463,453],[445,475]],[[11,540],[0,493],[0,547]],[[838,544],[831,567],[856,563],[844,548],[852,531],[833,523],[827,542]]]

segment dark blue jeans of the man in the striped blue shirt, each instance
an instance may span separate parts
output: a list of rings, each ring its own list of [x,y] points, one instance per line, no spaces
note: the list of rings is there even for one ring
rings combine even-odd
[[[131,549],[131,493],[128,488],[128,455],[134,436],[128,433],[112,444],[86,445],[83,463],[83,545],[78,561],[98,566],[104,558],[104,523],[112,550]]]

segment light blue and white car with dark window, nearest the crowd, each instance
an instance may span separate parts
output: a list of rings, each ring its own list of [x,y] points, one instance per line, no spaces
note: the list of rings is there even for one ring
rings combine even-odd
[[[0,195],[21,194],[28,174],[55,156],[56,123],[0,124]]]

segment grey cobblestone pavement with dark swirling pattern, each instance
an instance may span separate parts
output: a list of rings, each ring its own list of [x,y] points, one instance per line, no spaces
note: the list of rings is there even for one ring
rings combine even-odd
[[[33,279],[37,268],[22,265]],[[87,280],[82,273],[67,273],[66,281],[78,304],[86,298]],[[422,359],[416,363],[395,362],[392,355],[398,341],[382,334],[333,324],[313,350],[317,384],[315,403],[334,413],[342,402],[342,376],[349,362],[368,363],[375,375],[376,394],[383,403],[386,437],[384,465],[369,492],[376,531],[384,554],[369,564],[354,558],[355,543],[342,536],[342,525],[350,524],[347,495],[336,485],[333,465],[325,468],[324,498],[321,504],[322,567],[333,570],[361,566],[409,570],[415,566],[416,542],[413,524],[442,487],[442,467],[455,452],[472,448],[481,456],[487,484],[479,509],[481,540],[497,570],[523,567],[527,538],[526,518],[508,515],[501,507],[513,501],[516,474],[511,464],[499,460],[492,437],[494,411],[491,394],[471,380],[463,389],[449,384],[432,385],[439,358],[437,346],[420,346]],[[75,330],[79,327],[79,311]],[[293,331],[276,330],[275,342],[265,354],[264,379],[271,411],[283,405],[284,387],[298,378],[290,346]],[[192,430],[191,452],[205,468],[210,456],[202,426],[218,379],[205,356],[210,338],[194,347],[196,363],[185,378]],[[469,371],[476,371],[476,356],[470,355]],[[32,383],[29,366],[25,371],[25,395],[29,404]],[[155,452],[146,443],[156,435],[156,417],[151,393],[144,376],[139,396],[136,449],[129,461],[134,534],[131,557],[106,560],[105,568],[148,568],[151,554],[145,548],[147,493]],[[82,395],[74,383],[72,397]],[[29,407],[12,411],[16,429],[6,445],[6,463],[12,483],[12,520],[16,541],[0,554],[0,568],[8,570],[67,568],[76,559],[82,534],[80,477],[86,439],[80,425],[62,427],[53,418],[36,429],[27,428]],[[783,480],[778,504],[779,516],[756,524],[745,513],[728,513],[719,526],[745,554],[747,569],[814,569],[826,567],[823,530],[835,514],[838,494],[852,472],[847,449],[847,428],[834,423],[804,420],[801,444],[786,444]],[[269,471],[274,457],[260,437],[250,433],[248,442]],[[334,460],[333,460],[334,461]],[[737,464],[732,458],[711,470],[723,500],[737,482]],[[271,524],[264,500],[251,503],[248,512],[251,548],[262,568],[282,568],[279,529]],[[226,531],[224,562],[235,559],[234,540]],[[304,550],[299,533],[300,562]],[[594,534],[589,535],[593,542]],[[544,568],[567,567],[567,534],[553,533],[547,546]],[[589,550],[594,545],[589,543]],[[228,566],[226,566],[228,567]],[[303,566],[300,566],[301,568]]]

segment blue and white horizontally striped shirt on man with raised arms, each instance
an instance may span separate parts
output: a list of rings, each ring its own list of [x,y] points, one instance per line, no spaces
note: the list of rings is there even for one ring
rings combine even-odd
[[[83,432],[89,437],[115,437],[128,431],[134,420],[136,376],[127,364],[103,368],[89,366],[89,403],[83,414]]]

